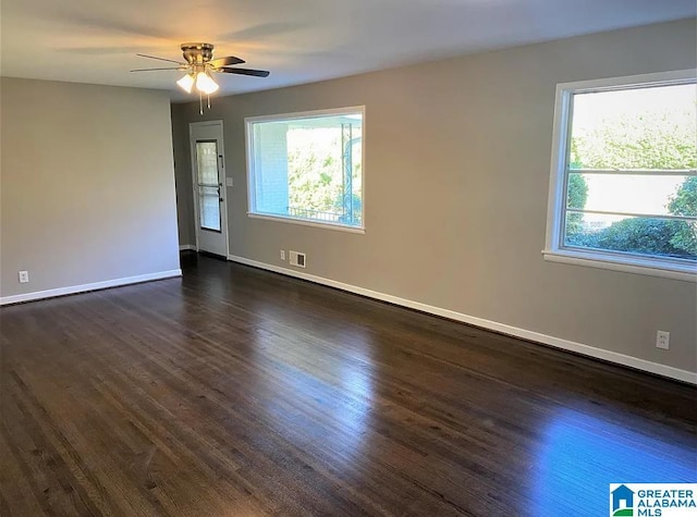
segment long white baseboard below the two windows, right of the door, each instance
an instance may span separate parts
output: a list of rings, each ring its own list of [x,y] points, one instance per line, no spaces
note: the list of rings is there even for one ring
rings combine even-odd
[[[637,357],[619,354],[616,352],[604,350],[595,346],[584,345],[573,341],[564,340],[562,337],[555,337],[552,335],[541,334],[517,327],[512,327],[505,323],[499,323],[497,321],[486,320],[484,318],[477,318],[475,316],[463,315],[462,312],[455,312],[454,310],[442,309],[440,307],[433,307],[431,305],[421,304],[406,298],[400,298],[389,294],[380,293],[377,291],[367,290],[364,287],[357,287],[355,285],[344,284],[337,282],[335,280],[326,279],[323,276],[316,276],[314,274],[303,273],[301,271],[294,271],[292,269],[281,268],[279,266],[268,264],[265,262],[258,262],[244,257],[236,257],[234,255],[228,256],[228,260],[233,262],[243,263],[246,266],[253,266],[255,268],[265,269],[267,271],[273,271],[276,273],[285,274],[288,276],[294,276],[296,279],[307,280],[318,284],[327,285],[329,287],[335,287],[350,293],[367,296],[369,298],[379,299],[381,301],[388,301],[390,304],[400,305],[409,309],[420,310],[421,312],[428,312],[429,315],[440,316],[450,320],[461,321],[484,329],[492,330],[502,334],[521,337],[523,340],[534,341],[543,345],[553,346],[563,350],[574,352],[584,356],[594,357],[596,359],[602,359],[609,362],[615,362],[617,365],[627,366],[637,370],[644,370],[649,373],[655,373],[670,379],[675,379],[690,384],[697,384],[697,373],[681,370],[658,362],[647,361]]]

